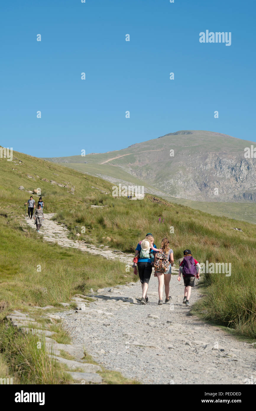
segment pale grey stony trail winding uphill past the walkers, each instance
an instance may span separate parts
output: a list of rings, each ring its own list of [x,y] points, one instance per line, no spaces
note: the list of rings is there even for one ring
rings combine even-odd
[[[131,254],[69,240],[67,229],[51,221],[52,216],[45,214],[39,234],[46,241],[132,264]],[[26,222],[33,225],[34,220]],[[76,349],[85,347],[100,365],[143,384],[244,384],[255,378],[253,344],[191,316],[190,307],[182,304],[184,286],[177,275],[171,277],[170,303],[157,304],[157,284],[152,274],[147,305],[139,303],[141,284],[137,282],[95,291],[90,303],[86,296],[76,294],[71,300],[76,309],[56,314]],[[191,305],[200,297],[196,286]]]

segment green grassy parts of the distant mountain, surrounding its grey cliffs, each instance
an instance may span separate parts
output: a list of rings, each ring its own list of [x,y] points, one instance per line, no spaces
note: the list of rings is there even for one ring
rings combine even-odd
[[[179,134],[177,137],[176,134]],[[151,193],[159,194],[168,201],[184,204],[191,208],[208,212],[212,215],[225,216],[247,221],[256,224],[255,204],[252,202],[225,203],[217,201],[192,201],[187,199],[175,199],[173,195],[180,192],[176,186],[176,173],[182,171],[187,173],[185,166],[182,166],[182,159],[190,155],[198,155],[199,152],[212,152],[214,154],[227,153],[227,156],[244,155],[244,147],[250,147],[254,136],[248,135],[248,140],[236,139],[224,134],[210,131],[192,130],[188,134],[184,131],[170,133],[162,136],[161,139],[144,141],[122,150],[113,152],[88,154],[85,157],[81,155],[70,157],[51,158],[51,161],[63,164],[78,171],[89,173],[91,175],[104,175],[104,178],[115,178],[124,180],[136,185],[144,185]],[[175,150],[175,157],[170,162],[169,150]],[[150,152],[147,150],[160,150],[159,152]],[[127,155],[129,154],[129,155]],[[123,156],[125,155],[125,156]],[[182,158],[179,157],[182,155]],[[114,157],[118,159],[113,159]],[[111,161],[101,164],[109,159]],[[160,161],[161,160],[161,161]],[[85,164],[86,162],[86,164]],[[143,166],[141,166],[142,164]],[[133,174],[131,174],[131,171]],[[146,171],[149,172],[150,179],[145,178]],[[135,175],[136,174],[136,175]],[[143,177],[144,176],[144,177]],[[167,184],[163,190],[163,179],[168,181],[173,178],[173,184]],[[143,181],[144,180],[144,181]],[[160,183],[160,184],[159,184]],[[154,187],[152,187],[152,185]],[[152,191],[151,191],[152,190]],[[255,191],[253,187],[247,191]],[[246,190],[245,190],[246,191]],[[242,192],[245,192],[242,190]],[[162,192],[162,194],[161,194]],[[241,192],[241,194],[242,194]],[[237,192],[236,194],[240,194]]]

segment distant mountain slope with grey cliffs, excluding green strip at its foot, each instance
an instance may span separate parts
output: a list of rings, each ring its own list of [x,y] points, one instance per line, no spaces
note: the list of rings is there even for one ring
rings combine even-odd
[[[135,177],[176,198],[254,202],[256,158],[244,157],[244,149],[251,145],[256,147],[226,134],[182,130],[123,150],[48,160],[80,163],[81,171],[95,171],[101,177],[125,173],[127,181]]]

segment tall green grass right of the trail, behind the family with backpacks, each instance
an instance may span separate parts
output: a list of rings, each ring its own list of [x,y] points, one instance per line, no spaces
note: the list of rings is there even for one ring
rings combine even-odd
[[[231,263],[231,277],[205,275],[208,294],[200,307],[207,307],[205,319],[232,327],[249,338],[256,337],[254,225],[213,217],[166,201],[152,203],[151,196],[138,201],[108,196],[101,199],[101,204],[108,207],[84,207],[72,213],[63,210],[56,219],[65,222],[73,233],[82,233],[84,226],[86,230],[81,238],[89,236],[92,242],[122,251],[134,252],[138,241],[150,231],[157,246],[164,236],[170,239],[175,259],[182,257],[185,248],[190,248],[200,262]],[[159,223],[160,217],[164,223]],[[173,234],[169,232],[171,226]],[[242,232],[233,230],[234,226],[239,226]]]

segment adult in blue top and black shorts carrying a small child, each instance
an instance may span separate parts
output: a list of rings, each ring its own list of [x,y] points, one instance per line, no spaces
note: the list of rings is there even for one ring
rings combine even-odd
[[[141,250],[145,248],[146,250],[148,248],[154,247],[156,248],[156,245],[154,244],[154,237],[152,236],[151,233],[148,233],[145,237],[145,240],[141,241],[141,244],[138,243],[136,250],[135,250],[135,261],[138,258],[138,261],[134,262],[134,274],[139,275],[140,281],[141,281],[141,288],[142,288],[142,297],[141,297],[141,304],[146,304],[148,302],[148,296],[147,296],[147,291],[148,291],[148,283],[151,277],[152,273],[152,260],[151,258],[153,257],[144,257],[141,255]],[[143,250],[145,251],[145,250]],[[154,254],[155,252],[153,252]],[[143,253],[142,253],[143,254]],[[138,272],[136,266],[138,265]]]

